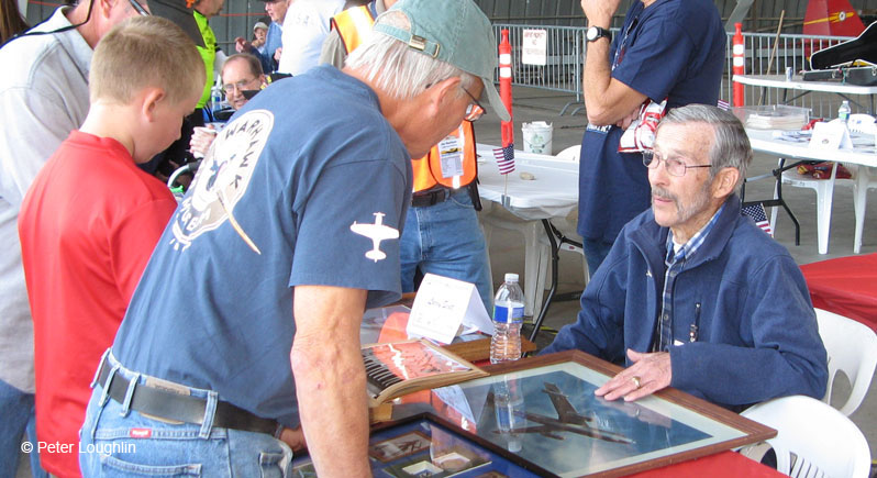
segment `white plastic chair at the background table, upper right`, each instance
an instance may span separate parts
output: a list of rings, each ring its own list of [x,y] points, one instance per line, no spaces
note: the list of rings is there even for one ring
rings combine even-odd
[[[870,120],[870,122],[868,122]],[[839,120],[832,120],[835,122]],[[867,114],[852,114],[847,122],[851,131],[858,133],[868,133],[874,129],[874,118]],[[873,134],[873,133],[872,133]],[[841,155],[842,152],[839,153]],[[793,169],[782,171],[782,184],[796,188],[810,188],[817,192],[817,236],[819,242],[819,253],[829,253],[829,231],[831,229],[831,207],[834,198],[835,185],[847,185],[853,187],[854,202],[856,214],[856,234],[853,241],[853,252],[858,254],[862,249],[862,233],[865,227],[865,208],[867,199],[867,190],[869,188],[877,188],[877,181],[870,180],[869,168],[855,166],[847,166],[853,177],[850,179],[837,179],[837,163],[832,163],[831,178],[830,179],[813,179],[810,176],[799,174]],[[770,213],[770,227],[776,231],[776,215],[777,210]]]

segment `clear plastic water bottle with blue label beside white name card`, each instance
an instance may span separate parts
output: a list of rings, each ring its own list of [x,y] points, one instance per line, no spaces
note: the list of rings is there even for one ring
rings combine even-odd
[[[493,338],[490,340],[490,363],[521,358],[521,323],[524,319],[524,292],[517,274],[507,274],[506,282],[493,298]]]

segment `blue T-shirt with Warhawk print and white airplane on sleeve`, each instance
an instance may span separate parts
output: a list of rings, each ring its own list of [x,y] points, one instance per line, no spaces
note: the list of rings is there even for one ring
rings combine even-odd
[[[410,191],[410,156],[365,84],[331,66],[273,84],[217,136],[113,354],[297,425],[292,288],[366,289],[368,307],[397,300]]]

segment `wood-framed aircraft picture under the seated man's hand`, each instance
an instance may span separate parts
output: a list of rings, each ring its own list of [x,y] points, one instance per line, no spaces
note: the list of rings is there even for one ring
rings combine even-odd
[[[598,398],[621,368],[577,351],[485,370],[491,376],[434,390],[436,413],[554,476],[629,475],[776,435],[675,389],[635,402]]]

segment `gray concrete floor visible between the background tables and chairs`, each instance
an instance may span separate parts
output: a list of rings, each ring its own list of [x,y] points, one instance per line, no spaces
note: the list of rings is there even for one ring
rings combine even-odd
[[[570,115],[569,111],[563,116],[559,115],[564,105],[575,100],[574,97],[524,87],[515,87],[513,97],[517,148],[522,148],[521,145],[523,144],[521,123],[531,121],[553,123],[554,154],[568,146],[581,143],[581,135],[587,123],[584,110],[575,116]],[[569,110],[571,109],[569,108]],[[498,116],[491,113],[478,120],[476,135],[479,143],[500,144],[501,135]],[[747,176],[752,177],[768,173],[774,167],[776,167],[776,158],[756,155]],[[792,223],[782,212],[779,213],[777,219],[775,238],[789,249],[799,265],[853,255],[855,216],[853,214],[852,187],[835,188],[829,254],[826,255],[820,255],[817,251],[815,191],[786,187],[782,193],[801,224],[801,244],[800,246],[795,245]],[[761,180],[746,186],[746,197],[748,199],[770,198],[773,197],[771,194],[771,180]],[[877,252],[877,221],[874,219],[877,218],[877,192],[872,192],[868,196],[867,209],[862,254]],[[495,229],[489,247],[495,285],[499,285],[502,281],[504,273],[519,273],[523,277],[524,243],[521,234]],[[584,288],[585,281],[580,255],[571,252],[562,252],[558,273],[558,292],[580,291]],[[549,308],[545,325],[556,331],[565,324],[575,322],[577,312],[578,301],[576,300],[555,302]],[[536,340],[537,345],[543,347],[551,343],[552,335],[551,333],[541,333]],[[835,381],[833,400],[845,398],[848,394],[848,380],[845,377],[840,377]],[[870,390],[865,401],[851,419],[868,440],[872,458],[877,459],[877,379],[872,381]]]

